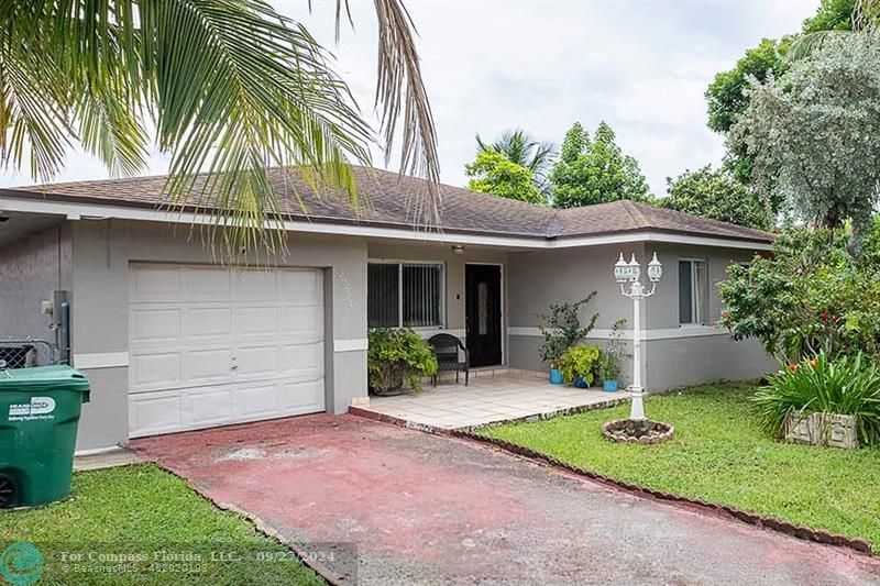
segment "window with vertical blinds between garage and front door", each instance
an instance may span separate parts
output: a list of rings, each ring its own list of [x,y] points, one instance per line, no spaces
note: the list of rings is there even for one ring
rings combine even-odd
[[[444,277],[442,264],[370,263],[367,324],[371,328],[442,327]]]

